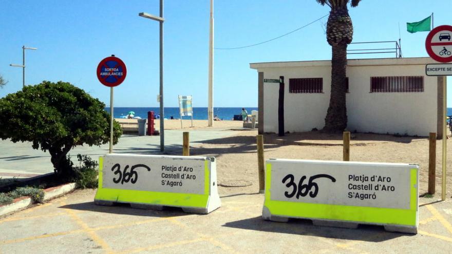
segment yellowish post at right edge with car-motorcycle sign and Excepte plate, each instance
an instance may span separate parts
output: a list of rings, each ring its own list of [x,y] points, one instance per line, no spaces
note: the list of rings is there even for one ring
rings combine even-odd
[[[425,39],[425,49],[428,55],[440,63],[452,62],[452,26],[442,25],[432,29]],[[452,64],[430,64],[425,66],[425,72],[429,76],[452,75]],[[446,153],[447,153],[447,134],[446,134],[446,116],[447,116],[447,87],[446,80],[443,79],[443,158],[442,158],[442,181],[441,181],[441,200],[446,200]]]

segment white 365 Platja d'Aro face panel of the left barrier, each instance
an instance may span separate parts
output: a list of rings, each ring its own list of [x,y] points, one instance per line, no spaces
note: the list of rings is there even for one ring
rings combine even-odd
[[[110,154],[102,188],[203,194],[204,167],[205,157]]]

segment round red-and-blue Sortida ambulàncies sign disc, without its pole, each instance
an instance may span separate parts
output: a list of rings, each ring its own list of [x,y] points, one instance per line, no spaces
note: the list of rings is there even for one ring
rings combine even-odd
[[[108,56],[99,63],[96,73],[103,85],[115,87],[124,81],[127,69],[120,58]]]

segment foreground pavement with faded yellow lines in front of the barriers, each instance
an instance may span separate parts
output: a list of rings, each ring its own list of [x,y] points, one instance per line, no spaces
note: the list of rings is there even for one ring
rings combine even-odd
[[[263,194],[222,197],[207,215],[96,206],[95,190],[0,218],[0,253],[450,253],[452,202],[420,199],[418,235],[260,218]],[[430,203],[430,204],[428,204]]]

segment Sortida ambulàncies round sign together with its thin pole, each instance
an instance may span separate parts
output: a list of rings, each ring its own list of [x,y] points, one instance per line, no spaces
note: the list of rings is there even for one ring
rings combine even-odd
[[[113,88],[119,86],[127,75],[124,62],[115,55],[105,57],[97,66],[97,78],[110,87],[110,146],[108,153],[113,152]]]

